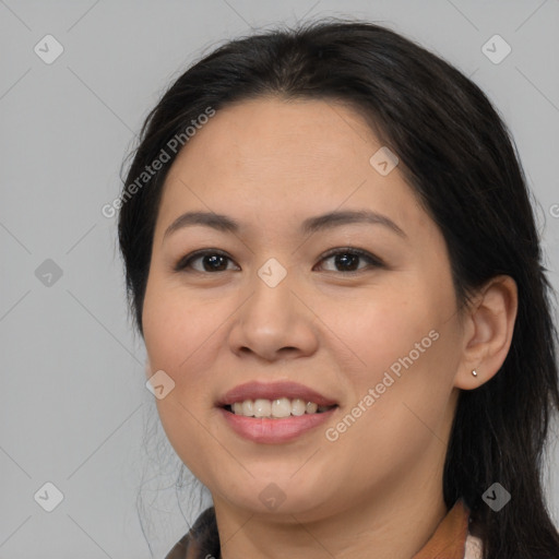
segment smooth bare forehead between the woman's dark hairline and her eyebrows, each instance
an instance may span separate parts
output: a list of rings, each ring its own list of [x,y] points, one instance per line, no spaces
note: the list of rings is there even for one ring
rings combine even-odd
[[[365,119],[340,103],[237,103],[219,109],[177,156],[162,218],[188,205],[240,216],[258,212],[261,218],[352,206],[417,219],[423,211],[400,169],[383,176],[371,165],[381,148]]]

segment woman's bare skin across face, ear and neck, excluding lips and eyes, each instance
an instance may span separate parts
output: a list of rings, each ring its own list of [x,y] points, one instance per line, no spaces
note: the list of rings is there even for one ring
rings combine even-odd
[[[217,111],[167,177],[143,307],[148,374],[163,369],[176,383],[158,413],[212,492],[225,559],[413,557],[447,513],[442,468],[459,390],[489,380],[509,350],[514,282],[491,280],[459,312],[440,230],[400,166],[381,176],[369,164],[381,145],[341,104],[259,98]],[[364,223],[298,231],[335,210],[381,213],[405,236]],[[187,211],[226,214],[241,228],[164,236]],[[347,247],[384,265],[361,259],[350,274],[323,258]],[[229,257],[226,271],[205,271],[207,259],[174,270],[204,248]],[[258,275],[271,258],[287,272],[275,287]],[[328,440],[326,428],[430,331],[438,340]],[[294,441],[248,441],[215,402],[251,380],[295,380],[340,407]],[[273,511],[259,499],[271,483],[285,495]]]

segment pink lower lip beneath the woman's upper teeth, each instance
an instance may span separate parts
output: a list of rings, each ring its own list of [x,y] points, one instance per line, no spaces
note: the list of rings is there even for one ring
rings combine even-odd
[[[300,416],[289,416],[278,419],[267,419],[263,417],[246,417],[236,415],[221,407],[225,420],[229,427],[237,433],[253,442],[263,444],[278,444],[300,437],[302,433],[328,421],[337,407],[333,407],[321,414],[304,414]]]

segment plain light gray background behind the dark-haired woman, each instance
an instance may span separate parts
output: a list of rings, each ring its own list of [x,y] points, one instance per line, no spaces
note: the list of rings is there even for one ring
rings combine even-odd
[[[515,138],[559,286],[559,0],[0,0],[0,559],[148,558],[142,475],[156,558],[207,504],[187,486],[178,506],[180,462],[144,386],[116,221],[100,209],[192,60],[251,27],[325,15],[384,22],[481,86]],[[51,64],[34,51],[47,34],[64,49]],[[495,34],[512,48],[498,64],[481,50]],[[551,447],[546,495],[559,525],[558,456]],[[63,493],[52,512],[34,499],[47,481]]]

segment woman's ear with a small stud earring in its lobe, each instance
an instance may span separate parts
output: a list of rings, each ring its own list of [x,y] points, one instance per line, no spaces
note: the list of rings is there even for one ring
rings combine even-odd
[[[477,389],[499,371],[511,346],[518,307],[516,283],[508,275],[492,277],[478,290],[464,311],[462,359],[454,386]]]

